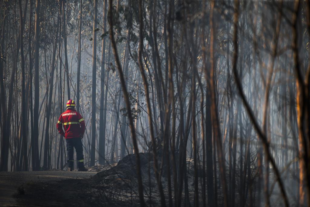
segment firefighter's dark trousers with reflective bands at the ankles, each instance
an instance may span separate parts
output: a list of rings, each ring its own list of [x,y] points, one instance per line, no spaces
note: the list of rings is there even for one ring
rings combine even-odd
[[[77,152],[78,162],[82,164],[82,162],[84,162],[82,139],[80,137],[78,137],[78,138],[68,138],[65,140],[67,142],[68,167],[70,167],[70,168],[73,167],[73,162],[74,162],[73,148],[75,148],[75,151]]]

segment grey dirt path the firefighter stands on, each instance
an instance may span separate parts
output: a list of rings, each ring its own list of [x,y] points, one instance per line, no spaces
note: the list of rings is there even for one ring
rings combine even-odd
[[[0,172],[0,206],[25,206],[24,201],[27,199],[27,186],[42,183],[42,191],[44,191],[44,183],[53,183],[63,180],[68,183],[70,180],[81,180],[82,178],[90,178],[95,172],[66,172],[66,171],[34,171],[34,172]],[[24,188],[24,198],[16,196],[22,193],[18,192],[18,188]],[[21,200],[20,200],[21,199]],[[29,200],[26,206],[42,206],[43,203],[38,200]],[[56,204],[60,205],[61,204]]]

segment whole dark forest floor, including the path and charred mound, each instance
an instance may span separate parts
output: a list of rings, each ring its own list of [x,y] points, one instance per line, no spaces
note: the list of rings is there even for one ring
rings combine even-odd
[[[160,206],[160,195],[153,170],[153,155],[151,153],[139,153],[139,155],[144,200],[148,206]],[[187,169],[187,199],[193,201],[193,160],[187,160]],[[202,194],[201,178],[198,182],[199,191]],[[166,204],[168,204],[168,181],[164,171],[162,186],[166,195]],[[171,187],[174,202],[173,186]],[[278,189],[274,190],[273,194],[279,195]],[[277,195],[275,198],[278,200]],[[184,187],[182,197],[181,205],[183,206],[186,197]],[[202,199],[201,195],[200,199]],[[221,194],[218,194],[218,199],[223,200]],[[237,199],[238,194],[236,194]],[[55,169],[35,172],[0,172],[0,206],[129,207],[140,206],[139,203],[134,154],[127,155],[113,165],[95,165],[89,168],[88,172],[66,172]],[[281,206],[281,203],[275,203],[277,205],[274,206]]]

